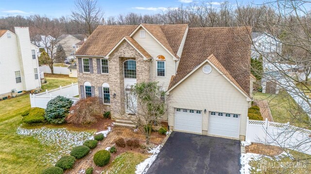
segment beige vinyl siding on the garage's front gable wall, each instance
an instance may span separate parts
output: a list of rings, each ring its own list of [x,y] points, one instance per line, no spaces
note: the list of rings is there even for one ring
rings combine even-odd
[[[246,97],[216,69],[212,68],[210,74],[204,74],[203,66],[170,92],[169,126],[174,126],[174,108],[201,110],[203,130],[208,130],[209,111],[237,113],[241,114],[240,135],[245,135],[248,109]]]

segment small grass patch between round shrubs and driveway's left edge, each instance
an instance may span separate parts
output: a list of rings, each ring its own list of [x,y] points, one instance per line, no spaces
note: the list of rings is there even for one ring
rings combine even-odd
[[[125,152],[116,157],[103,174],[135,174],[136,166],[146,158],[147,155],[137,152]]]

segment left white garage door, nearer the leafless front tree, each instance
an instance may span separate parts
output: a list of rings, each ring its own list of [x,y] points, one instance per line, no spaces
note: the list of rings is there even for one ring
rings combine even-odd
[[[174,130],[202,134],[202,112],[175,108]]]

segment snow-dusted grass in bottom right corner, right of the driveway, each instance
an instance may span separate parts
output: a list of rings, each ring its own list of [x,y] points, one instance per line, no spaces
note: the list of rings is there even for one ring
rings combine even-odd
[[[253,167],[251,174],[262,174],[263,171],[257,171],[266,167],[264,174],[308,174],[311,171],[310,155],[299,153],[296,151],[288,152],[291,157],[282,157],[276,159],[275,157],[261,157],[258,160],[252,160],[249,165]],[[283,166],[283,167],[280,167]]]

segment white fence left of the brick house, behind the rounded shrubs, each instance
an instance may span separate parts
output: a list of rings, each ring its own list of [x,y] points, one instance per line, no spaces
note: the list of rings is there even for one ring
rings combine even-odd
[[[30,94],[31,107],[46,109],[48,102],[58,95],[70,98],[74,103],[76,103],[79,100],[79,98],[73,96],[79,95],[78,83],[72,83],[71,85],[64,87],[60,86],[59,88],[50,91],[47,90],[43,93],[35,95]]]

